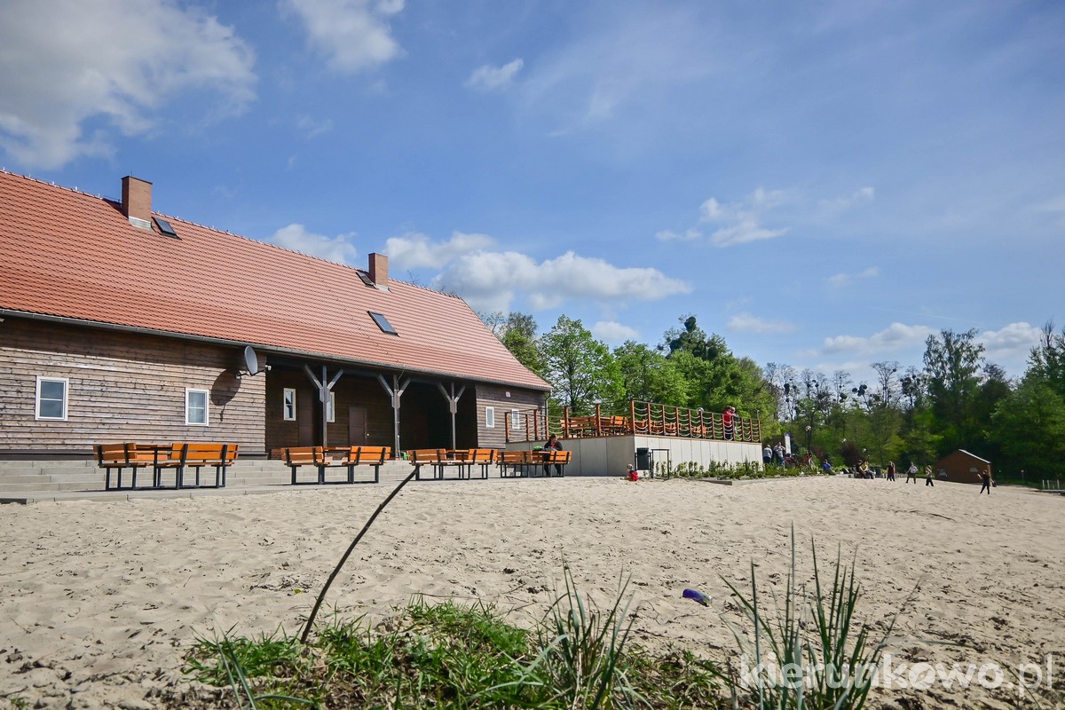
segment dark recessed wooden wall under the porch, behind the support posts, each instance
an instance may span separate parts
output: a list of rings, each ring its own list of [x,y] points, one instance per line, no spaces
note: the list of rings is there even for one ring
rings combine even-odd
[[[314,367],[312,367],[314,369]],[[337,370],[329,368],[329,377]],[[315,373],[321,377],[320,373]],[[297,446],[299,441],[299,414],[295,422],[285,422],[281,411],[284,389],[296,390],[297,410],[300,399],[313,402],[315,443],[322,441],[322,402],[317,389],[302,369],[272,368],[266,374],[266,448]],[[329,446],[392,446],[392,401],[384,387],[374,378],[344,374],[333,385],[337,395],[335,422],[329,424]],[[404,395],[403,403],[407,404]],[[348,441],[348,408],[366,409],[365,442]],[[403,410],[400,409],[400,412]]]

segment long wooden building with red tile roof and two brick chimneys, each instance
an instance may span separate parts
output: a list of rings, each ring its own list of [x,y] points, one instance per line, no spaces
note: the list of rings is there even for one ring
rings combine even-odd
[[[0,456],[502,446],[550,385],[461,298],[0,171]],[[517,419],[517,415],[515,415]]]

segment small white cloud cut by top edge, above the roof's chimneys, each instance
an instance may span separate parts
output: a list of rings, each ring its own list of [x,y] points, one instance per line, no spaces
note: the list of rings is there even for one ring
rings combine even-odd
[[[300,19],[308,43],[337,71],[375,67],[403,51],[388,19],[404,0],[281,0],[281,7]]]

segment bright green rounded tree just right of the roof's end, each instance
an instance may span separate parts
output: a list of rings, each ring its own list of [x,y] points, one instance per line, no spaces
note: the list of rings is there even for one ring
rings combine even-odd
[[[554,398],[571,414],[589,414],[597,402],[620,407],[622,385],[618,363],[607,346],[579,319],[558,317],[540,339],[543,377],[554,387]]]

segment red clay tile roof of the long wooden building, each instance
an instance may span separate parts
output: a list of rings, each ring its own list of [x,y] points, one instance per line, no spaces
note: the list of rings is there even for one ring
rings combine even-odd
[[[160,215],[163,216],[163,215]],[[460,298],[0,171],[0,309],[546,390]],[[382,313],[398,335],[367,314]]]

